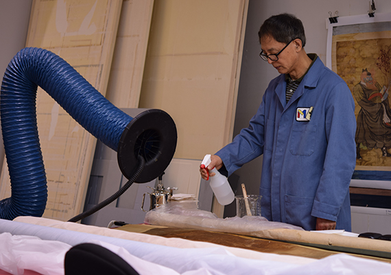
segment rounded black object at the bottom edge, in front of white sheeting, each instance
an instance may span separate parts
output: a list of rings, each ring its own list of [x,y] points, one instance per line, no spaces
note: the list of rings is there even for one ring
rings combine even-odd
[[[81,243],[65,254],[65,275],[139,275],[126,261],[93,243]]]

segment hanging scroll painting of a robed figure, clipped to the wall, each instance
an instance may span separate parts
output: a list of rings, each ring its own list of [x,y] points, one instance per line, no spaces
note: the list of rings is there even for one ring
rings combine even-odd
[[[327,67],[355,100],[353,179],[391,180],[391,14],[339,17],[329,23]]]

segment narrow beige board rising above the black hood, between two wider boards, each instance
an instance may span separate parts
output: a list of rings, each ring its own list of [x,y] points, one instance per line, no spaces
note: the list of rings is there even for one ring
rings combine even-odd
[[[154,0],[123,0],[106,98],[138,108]]]

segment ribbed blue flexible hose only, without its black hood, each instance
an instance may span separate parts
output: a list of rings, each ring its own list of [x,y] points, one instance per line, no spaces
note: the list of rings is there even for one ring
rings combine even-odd
[[[38,86],[115,151],[132,120],[56,54],[33,47],[21,50],[8,65],[1,85],[1,129],[12,195],[0,201],[0,219],[41,217],[45,211],[47,179],[36,123]]]

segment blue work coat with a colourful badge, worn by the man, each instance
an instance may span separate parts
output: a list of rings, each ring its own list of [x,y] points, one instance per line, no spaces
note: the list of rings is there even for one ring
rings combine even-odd
[[[315,230],[320,217],[351,231],[348,186],[356,153],[351,91],[320,58],[288,103],[285,88],[284,74],[274,78],[248,128],[216,155],[230,175],[263,154],[259,193],[269,221]]]

